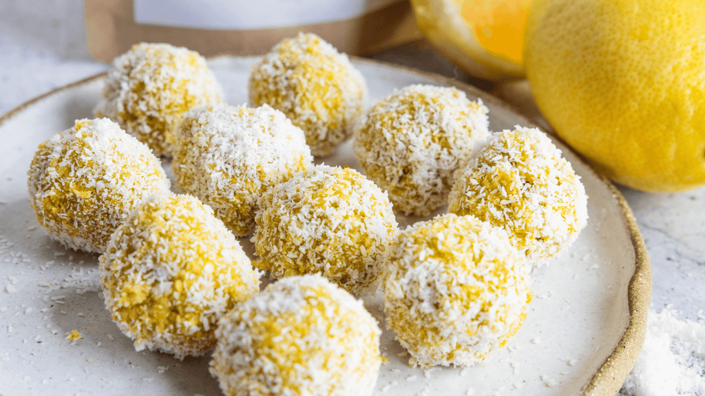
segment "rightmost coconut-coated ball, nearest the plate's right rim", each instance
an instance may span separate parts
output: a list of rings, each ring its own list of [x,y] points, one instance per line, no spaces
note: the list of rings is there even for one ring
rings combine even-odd
[[[448,211],[504,228],[538,266],[570,246],[587,225],[587,195],[544,132],[515,128],[497,132],[458,172]]]

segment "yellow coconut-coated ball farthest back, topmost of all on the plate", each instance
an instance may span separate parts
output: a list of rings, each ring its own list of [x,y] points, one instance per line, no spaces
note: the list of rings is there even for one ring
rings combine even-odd
[[[327,156],[353,133],[367,97],[367,83],[317,35],[283,39],[252,67],[250,104],[283,111],[306,132],[314,156]]]

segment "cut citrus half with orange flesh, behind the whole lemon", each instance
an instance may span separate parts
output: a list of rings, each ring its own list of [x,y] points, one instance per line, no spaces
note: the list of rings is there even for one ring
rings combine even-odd
[[[524,75],[522,42],[532,0],[412,0],[427,39],[467,74],[486,80]]]

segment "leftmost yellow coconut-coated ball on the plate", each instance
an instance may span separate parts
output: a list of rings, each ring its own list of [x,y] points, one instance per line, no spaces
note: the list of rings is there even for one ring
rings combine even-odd
[[[76,120],[40,144],[27,175],[30,204],[47,233],[98,253],[130,211],[170,187],[149,147],[107,118]]]

